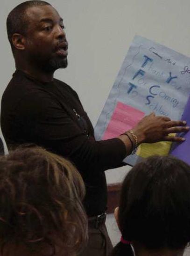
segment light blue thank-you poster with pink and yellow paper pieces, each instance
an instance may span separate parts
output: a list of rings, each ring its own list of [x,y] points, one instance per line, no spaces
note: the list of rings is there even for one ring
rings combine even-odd
[[[97,140],[118,137],[142,117],[179,120],[190,94],[190,58],[141,36],[135,36],[95,127]],[[171,142],[141,144],[124,160],[169,154]]]

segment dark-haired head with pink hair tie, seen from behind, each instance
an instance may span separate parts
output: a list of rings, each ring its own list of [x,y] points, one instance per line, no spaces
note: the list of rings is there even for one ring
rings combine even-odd
[[[171,156],[135,165],[115,217],[121,241],[112,256],[182,256],[190,242],[190,166]]]

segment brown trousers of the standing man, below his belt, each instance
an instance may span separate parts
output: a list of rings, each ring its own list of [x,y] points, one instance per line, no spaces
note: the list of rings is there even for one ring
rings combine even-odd
[[[113,249],[105,223],[98,228],[89,225],[89,240],[80,256],[108,256]]]

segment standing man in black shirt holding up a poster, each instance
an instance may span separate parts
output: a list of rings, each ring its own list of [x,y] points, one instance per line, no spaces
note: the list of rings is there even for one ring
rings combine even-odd
[[[56,69],[66,68],[68,54],[63,19],[57,11],[44,1],[24,2],[8,15],[7,34],[16,65],[1,102],[1,129],[7,146],[33,142],[76,165],[84,179],[84,207],[89,216],[89,243],[82,255],[108,255],[112,245],[105,226],[104,171],[122,165],[125,156],[142,142],[182,141],[168,134],[189,127],[152,113],[132,131],[96,141],[77,93],[54,79]]]

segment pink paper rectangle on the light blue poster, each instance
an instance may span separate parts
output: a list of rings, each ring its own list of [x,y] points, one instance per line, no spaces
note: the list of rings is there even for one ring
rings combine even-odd
[[[144,117],[144,113],[129,105],[118,102],[103,139],[118,137],[121,133],[132,129]]]

